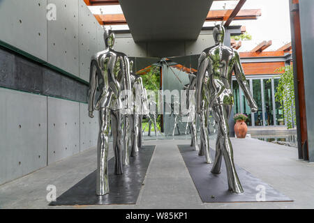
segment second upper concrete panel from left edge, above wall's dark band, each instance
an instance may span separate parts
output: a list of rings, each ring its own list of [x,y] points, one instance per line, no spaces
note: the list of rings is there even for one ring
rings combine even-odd
[[[79,77],[78,0],[47,0],[57,20],[47,21],[48,63]]]

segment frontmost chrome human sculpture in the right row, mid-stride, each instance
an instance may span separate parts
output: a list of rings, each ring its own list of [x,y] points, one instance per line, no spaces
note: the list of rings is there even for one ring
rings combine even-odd
[[[202,114],[204,100],[212,109],[214,119],[218,123],[216,156],[211,173],[220,173],[221,160],[224,157],[229,190],[241,193],[244,190],[234,167],[232,144],[229,139],[228,121],[234,105],[231,89],[232,72],[246,95],[251,112],[257,112],[257,105],[246,81],[239,53],[237,50],[223,45],[225,28],[222,25],[216,25],[213,36],[216,45],[204,49],[199,59],[196,87],[197,113]],[[207,72],[209,79],[204,82]]]

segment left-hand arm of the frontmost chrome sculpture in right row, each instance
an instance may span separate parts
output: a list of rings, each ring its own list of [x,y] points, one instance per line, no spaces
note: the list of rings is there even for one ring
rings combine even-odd
[[[204,79],[205,72],[208,67],[208,59],[206,53],[202,52],[200,55],[200,59],[198,59],[198,68],[197,68],[197,75],[196,75],[196,112],[201,113],[201,107],[202,107],[202,83]]]

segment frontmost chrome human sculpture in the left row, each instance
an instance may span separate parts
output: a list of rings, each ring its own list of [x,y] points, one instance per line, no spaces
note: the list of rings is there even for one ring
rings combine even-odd
[[[126,54],[114,51],[114,33],[104,32],[105,50],[98,52],[91,58],[91,72],[89,85],[89,116],[94,117],[94,110],[98,110],[99,134],[97,144],[97,182],[96,194],[109,193],[107,153],[108,137],[111,130],[114,148],[114,173],[123,174],[123,140],[122,140],[122,109],[128,109],[128,103],[122,102],[123,90],[130,90],[130,67]],[[96,100],[96,89],[99,97]],[[127,91],[129,92],[129,91]],[[129,93],[126,94],[130,98]]]

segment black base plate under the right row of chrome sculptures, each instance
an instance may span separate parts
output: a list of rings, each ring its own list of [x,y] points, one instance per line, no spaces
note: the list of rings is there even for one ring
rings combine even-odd
[[[204,203],[215,202],[257,202],[257,201],[292,201],[289,197],[274,190],[267,183],[262,182],[251,173],[236,165],[244,193],[236,194],[228,190],[227,172],[225,162],[221,164],[220,174],[211,174],[213,164],[207,164],[204,156],[198,155],[195,147],[179,145],[179,151],[186,162],[195,187]],[[211,157],[215,157],[215,151],[211,149]],[[258,188],[258,185],[260,188]],[[261,189],[262,188],[262,189]],[[264,190],[264,197],[261,193]]]

